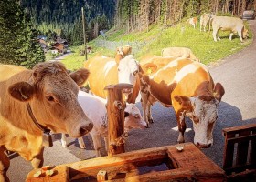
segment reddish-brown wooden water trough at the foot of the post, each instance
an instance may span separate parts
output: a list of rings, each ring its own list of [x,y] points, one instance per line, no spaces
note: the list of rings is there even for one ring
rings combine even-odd
[[[206,157],[192,143],[176,146],[155,147],[133,151],[112,157],[98,157],[61,166],[69,167],[70,180],[96,181],[99,171],[105,171],[108,180],[119,181],[223,181],[225,171]],[[172,161],[172,162],[170,162]],[[174,163],[167,165],[167,163]],[[155,170],[155,165],[162,167]],[[148,166],[153,166],[149,167]],[[144,170],[145,168],[146,170]],[[176,168],[169,168],[176,167]]]

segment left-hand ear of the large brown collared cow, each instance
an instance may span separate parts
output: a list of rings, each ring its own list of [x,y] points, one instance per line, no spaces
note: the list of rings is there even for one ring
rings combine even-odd
[[[30,100],[34,93],[34,86],[31,86],[27,82],[18,82],[8,88],[9,94],[21,102],[27,102]]]

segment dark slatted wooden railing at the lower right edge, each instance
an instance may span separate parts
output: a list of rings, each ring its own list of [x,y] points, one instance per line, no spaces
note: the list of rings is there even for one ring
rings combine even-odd
[[[224,128],[223,169],[227,175],[256,169],[256,124]]]

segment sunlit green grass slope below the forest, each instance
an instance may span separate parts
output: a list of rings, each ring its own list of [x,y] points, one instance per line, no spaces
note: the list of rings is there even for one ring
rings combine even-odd
[[[181,23],[172,27],[165,27],[163,25],[152,25],[149,31],[134,32],[126,34],[124,30],[114,30],[113,28],[107,33],[107,40],[110,41],[144,41],[147,44],[134,56],[140,60],[146,55],[161,55],[161,50],[169,46],[184,46],[190,48],[193,53],[201,60],[202,63],[208,65],[212,62],[217,62],[224,57],[232,55],[242,48],[248,46],[252,42],[252,34],[250,31],[250,38],[240,43],[238,35],[233,35],[232,41],[229,41],[229,32],[219,31],[220,41],[214,42],[212,31],[200,32],[199,25],[196,29],[192,26],[184,26],[185,30],[182,32]],[[248,26],[248,25],[246,25]],[[101,38],[101,37],[99,37]],[[96,47],[94,41],[89,45],[93,48],[93,54],[88,58],[96,55],[104,55],[114,57],[114,51]],[[67,56],[63,63],[71,70],[78,69],[83,66],[85,56],[80,56],[80,47],[72,47],[73,55]]]

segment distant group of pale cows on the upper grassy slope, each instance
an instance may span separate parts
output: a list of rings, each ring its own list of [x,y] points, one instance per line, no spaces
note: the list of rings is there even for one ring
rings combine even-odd
[[[191,17],[187,19],[187,24],[192,25],[196,28],[197,25],[197,17]],[[200,31],[202,28],[206,31],[206,27],[208,26],[208,31],[210,31],[210,25],[212,26],[212,35],[213,40],[217,42],[220,40],[218,32],[219,30],[229,31],[229,40],[232,40],[232,36],[234,34],[238,34],[240,37],[240,42],[243,39],[249,36],[248,30],[245,28],[243,21],[238,17],[230,17],[230,16],[217,16],[213,14],[206,14],[200,16]]]

